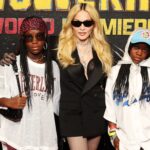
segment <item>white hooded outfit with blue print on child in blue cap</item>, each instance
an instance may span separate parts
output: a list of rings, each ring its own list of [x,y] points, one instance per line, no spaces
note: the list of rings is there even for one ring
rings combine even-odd
[[[105,89],[106,110],[104,118],[117,125],[117,135],[120,139],[119,150],[150,150],[150,101],[140,99],[142,91],[141,66],[148,68],[150,79],[150,58],[136,65],[132,62],[128,48],[132,35],[125,47],[121,61],[112,68]],[[129,94],[122,102],[113,99],[113,90],[122,64],[131,64],[129,74]],[[146,95],[150,97],[150,95]]]

